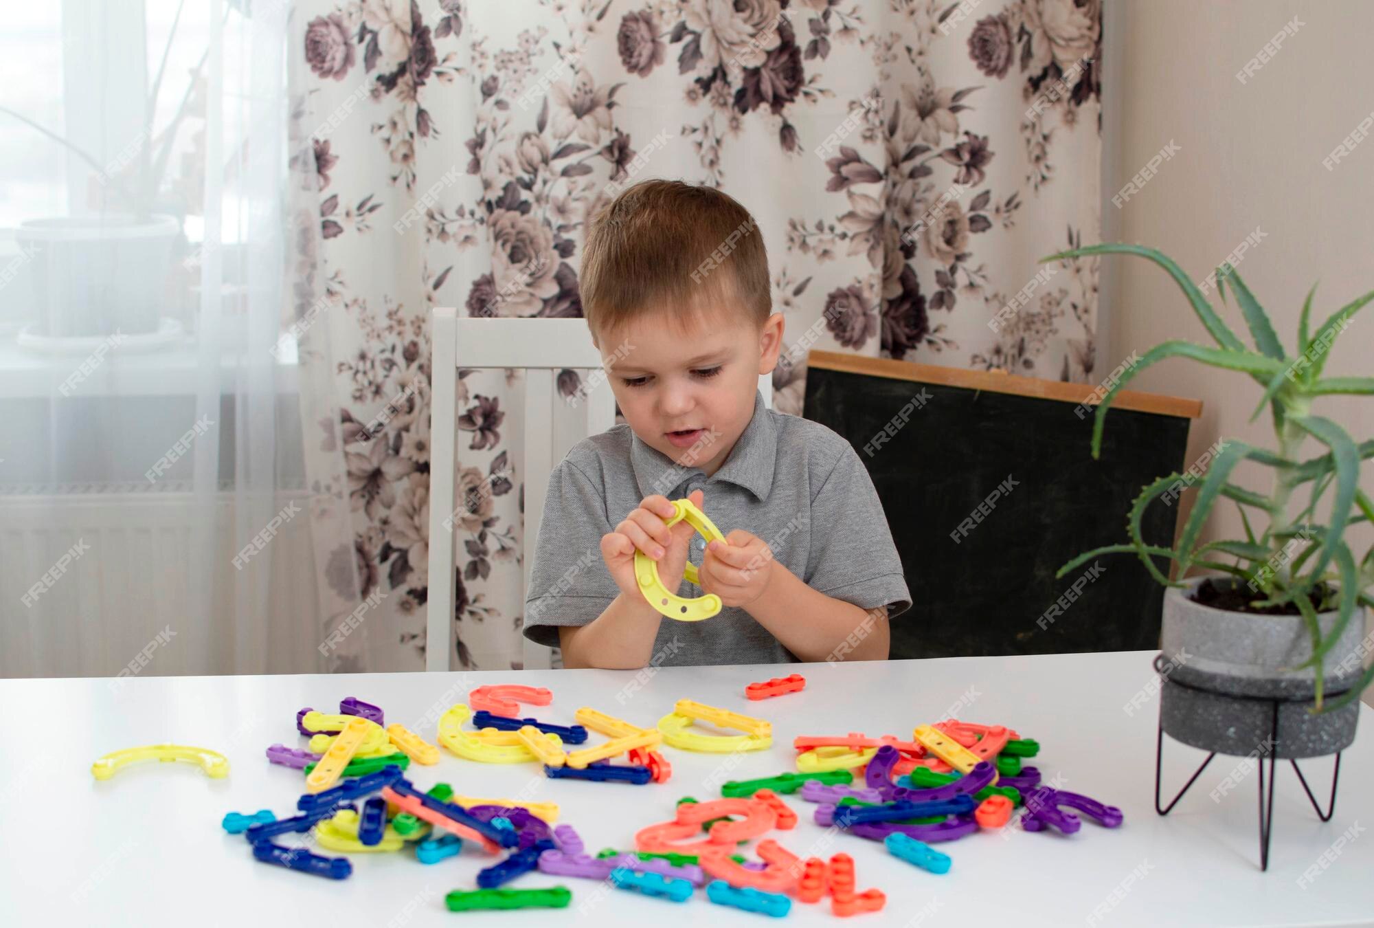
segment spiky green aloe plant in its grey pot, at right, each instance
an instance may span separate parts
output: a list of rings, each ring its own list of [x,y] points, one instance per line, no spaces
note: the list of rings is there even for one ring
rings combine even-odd
[[[1254,342],[1249,348],[1179,265],[1154,249],[1094,245],[1043,260],[1092,254],[1138,254],[1162,267],[1217,342],[1212,348],[1167,341],[1129,367],[1096,408],[1092,456],[1099,454],[1116,395],[1167,357],[1249,375],[1259,396],[1252,421],[1267,408],[1275,444],[1260,448],[1224,439],[1204,476],[1161,476],[1131,507],[1129,542],[1085,551],[1058,576],[1103,554],[1134,553],[1168,587],[1160,722],[1172,738],[1242,756],[1272,752],[1276,758],[1312,758],[1344,749],[1355,740],[1359,694],[1374,679],[1374,667],[1363,667],[1369,652],[1363,643],[1364,606],[1374,605],[1374,547],[1356,557],[1348,536],[1352,525],[1374,522],[1374,502],[1359,485],[1360,462],[1374,456],[1374,440],[1356,443],[1314,406],[1326,396],[1374,393],[1374,377],[1322,375],[1331,344],[1374,300],[1374,291],[1337,309],[1314,330],[1314,286],[1303,304],[1296,351],[1290,352],[1241,275],[1223,264],[1216,290],[1224,304],[1230,285]],[[1267,485],[1232,483],[1242,461],[1265,467],[1271,474]],[[1176,498],[1194,480],[1197,502],[1178,543],[1147,544],[1140,533],[1146,507]],[[1202,527],[1223,499],[1239,509],[1245,538],[1202,542]],[[1169,561],[1178,568],[1172,579],[1165,573]],[[1190,576],[1197,571],[1204,573]],[[1278,737],[1271,742],[1275,719]]]

